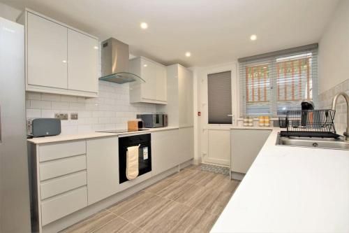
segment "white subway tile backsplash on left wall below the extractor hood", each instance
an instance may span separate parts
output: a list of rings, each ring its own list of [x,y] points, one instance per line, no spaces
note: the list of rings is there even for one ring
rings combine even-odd
[[[54,113],[78,113],[78,120],[62,120],[62,134],[125,129],[138,113],[154,113],[155,104],[130,104],[128,84],[100,81],[97,98],[27,92],[27,118],[53,118]]]

